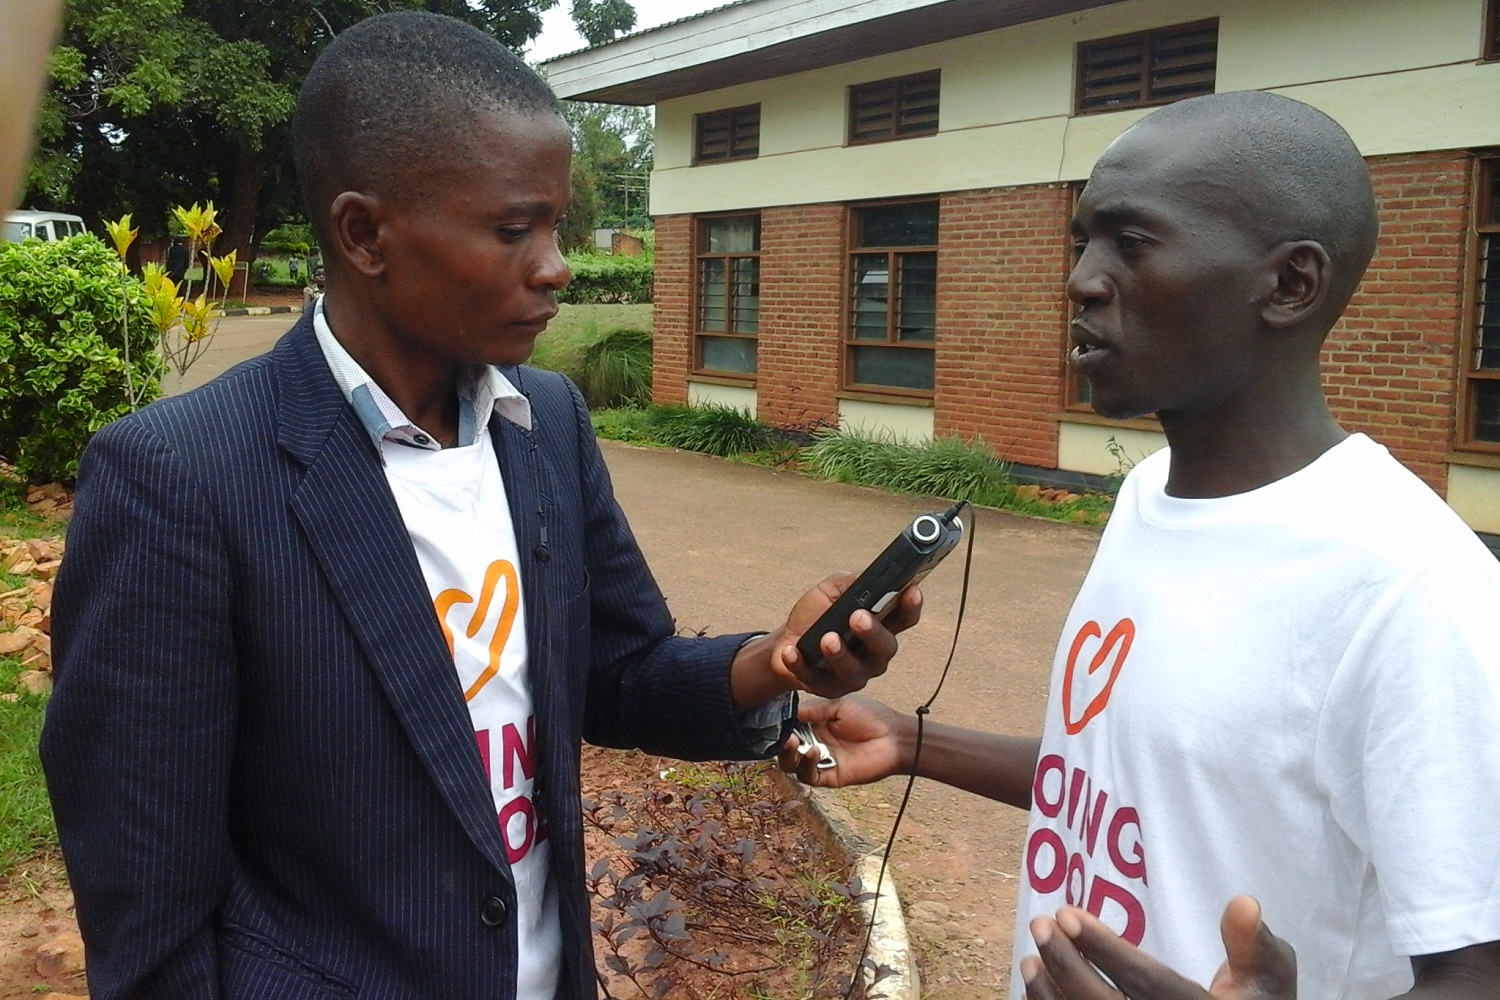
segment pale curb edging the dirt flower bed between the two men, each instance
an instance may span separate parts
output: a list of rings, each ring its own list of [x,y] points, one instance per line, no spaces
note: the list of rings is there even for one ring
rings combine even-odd
[[[912,957],[910,937],[906,933],[906,918],[902,913],[902,901],[896,892],[896,879],[890,868],[885,879],[880,879],[880,862],[885,858],[884,846],[872,844],[855,826],[854,817],[844,808],[837,793],[825,789],[810,789],[780,771],[772,774],[783,786],[802,802],[813,825],[822,834],[822,840],[836,844],[858,858],[856,873],[864,892],[874,892],[876,883],[880,886],[879,895],[862,901],[867,927],[873,927],[870,948],[866,958],[874,963],[876,969],[888,970],[878,984],[861,969],[864,985],[872,1000],[921,1000],[921,978],[916,973],[916,961]]]

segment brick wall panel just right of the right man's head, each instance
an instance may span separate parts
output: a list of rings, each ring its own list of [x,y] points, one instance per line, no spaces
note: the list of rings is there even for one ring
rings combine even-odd
[[[1454,439],[1468,157],[1370,160],[1380,243],[1323,351],[1334,415],[1376,438],[1438,493]]]

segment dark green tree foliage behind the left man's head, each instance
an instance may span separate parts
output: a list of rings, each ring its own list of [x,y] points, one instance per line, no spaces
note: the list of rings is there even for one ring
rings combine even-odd
[[[134,211],[150,238],[165,234],[170,205],[207,196],[225,207],[220,249],[250,261],[256,234],[300,214],[290,120],[333,34],[424,9],[520,48],[556,1],[70,0],[26,204],[92,225]],[[598,6],[591,25],[634,22],[626,0]]]

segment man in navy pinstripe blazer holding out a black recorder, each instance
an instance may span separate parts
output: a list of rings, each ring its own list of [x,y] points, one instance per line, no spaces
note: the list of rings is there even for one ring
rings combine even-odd
[[[592,997],[579,741],[770,756],[916,595],[828,672],[795,639],[843,579],[674,636],[578,391],[520,366],[570,139],[492,39],[346,30],[296,151],[326,298],[80,475],[42,756],[92,996]]]

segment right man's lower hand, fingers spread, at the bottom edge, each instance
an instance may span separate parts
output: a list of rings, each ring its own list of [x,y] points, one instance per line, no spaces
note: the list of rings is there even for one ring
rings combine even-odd
[[[1294,1000],[1298,994],[1296,952],[1266,928],[1260,904],[1250,897],[1236,897],[1224,907],[1220,934],[1226,961],[1208,990],[1083,910],[1038,918],[1030,928],[1041,958],[1022,960],[1026,1000]]]

